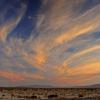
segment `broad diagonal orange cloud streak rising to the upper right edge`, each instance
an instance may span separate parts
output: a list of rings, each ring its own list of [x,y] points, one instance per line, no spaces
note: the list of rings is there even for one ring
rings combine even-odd
[[[54,44],[60,45],[66,41],[69,41],[79,35],[87,34],[99,28],[100,26],[100,14],[98,14],[98,9],[100,9],[100,5],[90,9],[85,14],[76,18],[71,24],[69,24],[68,31],[65,33],[61,33],[60,36],[54,39]],[[91,16],[93,14],[97,14],[93,19]]]

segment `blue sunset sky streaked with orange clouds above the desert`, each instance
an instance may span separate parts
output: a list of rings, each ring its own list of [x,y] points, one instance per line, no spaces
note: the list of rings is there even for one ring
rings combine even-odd
[[[0,0],[0,86],[100,83],[100,0]]]

